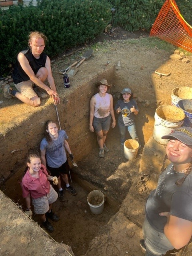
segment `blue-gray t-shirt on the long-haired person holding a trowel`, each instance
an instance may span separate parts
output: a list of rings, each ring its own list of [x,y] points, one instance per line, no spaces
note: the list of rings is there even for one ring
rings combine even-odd
[[[62,166],[67,160],[64,140],[67,140],[68,136],[64,130],[58,131],[57,140],[52,140],[49,144],[46,138],[43,138],[40,144],[41,150],[46,150],[46,163],[52,168],[58,168]]]

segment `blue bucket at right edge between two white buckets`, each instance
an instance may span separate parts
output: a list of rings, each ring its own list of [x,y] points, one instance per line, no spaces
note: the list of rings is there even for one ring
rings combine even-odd
[[[186,115],[183,126],[192,127],[192,100],[180,100],[177,106],[181,108]]]

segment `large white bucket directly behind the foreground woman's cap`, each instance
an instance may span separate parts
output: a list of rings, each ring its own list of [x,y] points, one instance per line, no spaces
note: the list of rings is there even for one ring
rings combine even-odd
[[[156,109],[153,138],[158,143],[166,145],[168,140],[161,137],[182,126],[185,113],[176,106],[164,105]]]

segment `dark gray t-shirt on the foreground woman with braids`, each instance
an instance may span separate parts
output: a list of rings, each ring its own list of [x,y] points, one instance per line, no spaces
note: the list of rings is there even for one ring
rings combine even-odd
[[[192,174],[186,177],[182,186],[175,184],[183,176],[184,173],[175,172],[170,164],[160,174],[157,188],[147,199],[146,218],[159,232],[164,233],[167,222],[166,216],[160,216],[160,212],[170,212],[173,216],[192,221]]]

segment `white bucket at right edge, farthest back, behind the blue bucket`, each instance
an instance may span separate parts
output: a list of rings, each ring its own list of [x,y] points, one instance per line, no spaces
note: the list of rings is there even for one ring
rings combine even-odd
[[[171,104],[176,106],[180,100],[192,100],[192,88],[188,86],[176,87],[172,90]]]

